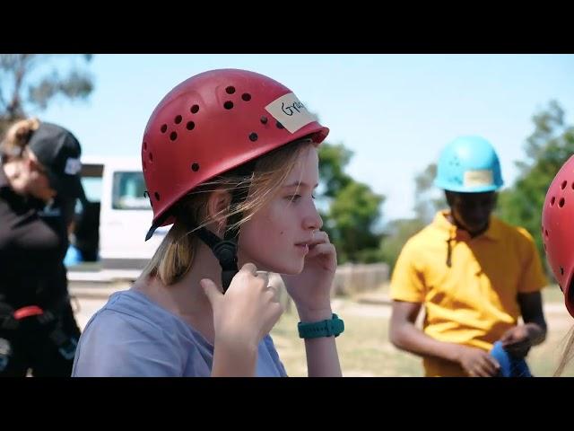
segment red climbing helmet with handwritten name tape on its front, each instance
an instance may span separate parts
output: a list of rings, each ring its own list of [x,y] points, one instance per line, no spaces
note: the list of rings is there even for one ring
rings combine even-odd
[[[220,69],[188,78],[153,110],[143,134],[153,209],[148,237],[173,223],[170,208],[205,180],[303,136],[318,144],[328,132],[291,90],[265,75]]]

